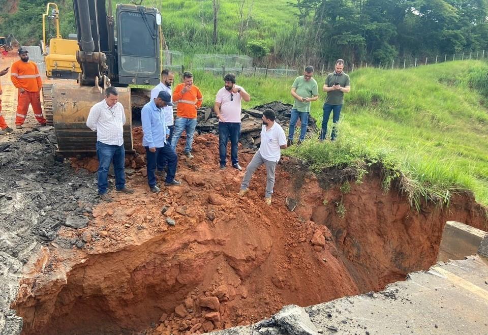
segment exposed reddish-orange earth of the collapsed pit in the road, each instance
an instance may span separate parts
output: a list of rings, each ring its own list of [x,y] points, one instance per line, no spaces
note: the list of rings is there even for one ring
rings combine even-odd
[[[195,159],[179,161],[181,187],[155,195],[137,171],[128,176],[134,194],[99,204],[85,228],[63,227],[24,270],[12,306],[24,333],[190,334],[249,324],[285,304],[383,288],[435,262],[446,220],[484,224],[472,198],[417,213],[383,193],[375,171],[344,193],[342,184],[323,189],[286,157],[268,207],[265,171],[239,198],[243,172],[220,170],[216,153],[216,136],[196,136]],[[240,155],[243,166],[251,158]]]

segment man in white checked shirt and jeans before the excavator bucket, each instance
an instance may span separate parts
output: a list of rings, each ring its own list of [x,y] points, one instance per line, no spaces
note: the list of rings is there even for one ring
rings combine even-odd
[[[115,172],[115,191],[134,193],[134,190],[126,187],[123,129],[125,123],[126,114],[124,106],[118,102],[117,89],[113,86],[107,87],[105,99],[90,109],[86,119],[86,126],[97,132],[98,194],[103,201],[112,201],[107,194],[110,162],[113,162]]]

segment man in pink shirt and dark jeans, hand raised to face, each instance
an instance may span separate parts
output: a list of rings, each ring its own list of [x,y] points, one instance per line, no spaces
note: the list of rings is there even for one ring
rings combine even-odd
[[[235,84],[235,74],[228,73],[224,77],[225,85],[215,98],[214,111],[219,119],[219,154],[220,168],[225,169],[225,160],[227,156],[227,142],[230,138],[230,158],[232,167],[239,171],[242,168],[237,159],[237,143],[240,136],[240,113],[242,100],[248,102],[251,96],[241,86]]]

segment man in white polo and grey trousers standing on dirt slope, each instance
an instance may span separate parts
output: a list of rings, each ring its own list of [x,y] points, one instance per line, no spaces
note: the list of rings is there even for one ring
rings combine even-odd
[[[275,122],[276,114],[271,109],[263,112],[263,128],[261,130],[261,146],[253,159],[249,163],[242,183],[240,185],[239,196],[244,196],[249,192],[249,182],[261,165],[266,166],[266,194],[264,201],[271,205],[271,195],[275,186],[275,170],[281,158],[281,149],[286,148],[285,131]]]

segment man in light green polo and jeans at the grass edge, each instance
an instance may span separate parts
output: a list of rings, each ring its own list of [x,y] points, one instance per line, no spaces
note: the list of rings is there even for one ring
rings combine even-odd
[[[314,67],[309,65],[303,69],[303,76],[295,78],[293,85],[291,85],[291,92],[295,102],[291,109],[290,128],[288,130],[288,142],[287,145],[293,144],[293,135],[295,134],[295,125],[300,117],[301,130],[298,144],[303,142],[305,134],[307,133],[307,123],[310,113],[310,102],[316,101],[319,98],[319,88],[317,82],[312,75],[314,73]]]

